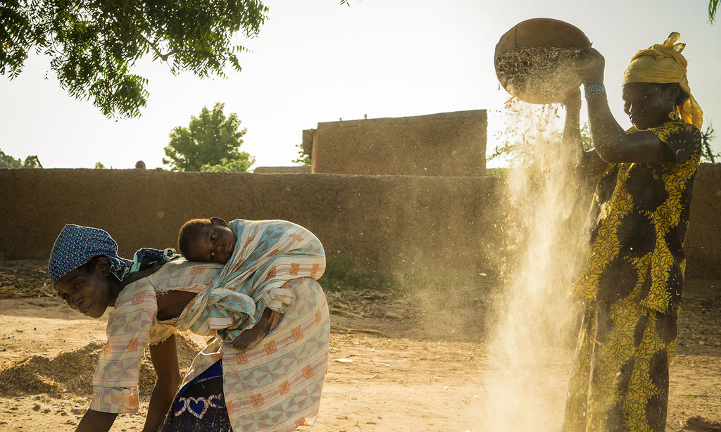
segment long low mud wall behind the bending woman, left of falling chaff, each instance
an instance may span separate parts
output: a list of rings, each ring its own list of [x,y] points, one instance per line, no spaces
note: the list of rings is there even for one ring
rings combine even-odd
[[[482,177],[0,169],[0,258],[47,258],[68,222],[107,230],[132,257],[175,246],[193,217],[286,219],[316,233],[329,258],[401,278],[467,280],[492,273],[498,186]]]

